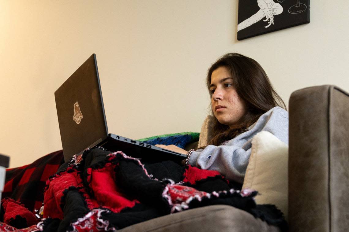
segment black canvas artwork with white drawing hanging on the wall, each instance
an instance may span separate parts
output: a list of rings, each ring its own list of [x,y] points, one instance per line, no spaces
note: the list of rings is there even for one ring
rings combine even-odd
[[[310,22],[310,0],[239,0],[237,39]]]

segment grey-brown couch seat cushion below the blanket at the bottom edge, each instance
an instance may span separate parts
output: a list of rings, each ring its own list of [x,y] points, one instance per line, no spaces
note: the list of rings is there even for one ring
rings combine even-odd
[[[275,226],[270,226],[266,222],[261,221],[261,219],[254,218],[246,211],[232,206],[215,205],[154,218],[146,222],[125,227],[120,231],[276,232],[280,230]]]

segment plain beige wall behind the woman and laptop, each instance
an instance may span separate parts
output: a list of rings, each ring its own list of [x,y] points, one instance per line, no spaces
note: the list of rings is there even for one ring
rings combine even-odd
[[[134,139],[199,131],[206,71],[227,52],[257,60],[285,102],[310,85],[349,91],[347,1],[312,0],[310,24],[242,41],[237,6],[0,0],[0,153],[16,167],[61,149],[54,91],[92,53],[109,131]]]

